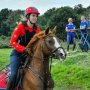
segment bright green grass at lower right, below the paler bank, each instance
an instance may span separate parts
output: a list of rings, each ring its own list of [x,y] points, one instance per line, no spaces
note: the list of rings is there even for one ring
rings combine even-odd
[[[52,73],[54,90],[90,90],[90,69],[75,65],[57,65],[53,67]]]

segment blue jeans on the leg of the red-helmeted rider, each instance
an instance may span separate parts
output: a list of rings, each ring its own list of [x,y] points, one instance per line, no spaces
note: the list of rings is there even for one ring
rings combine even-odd
[[[17,77],[18,68],[21,64],[21,53],[18,53],[16,50],[13,50],[10,55],[10,68],[11,68],[11,76],[10,79],[15,81]]]

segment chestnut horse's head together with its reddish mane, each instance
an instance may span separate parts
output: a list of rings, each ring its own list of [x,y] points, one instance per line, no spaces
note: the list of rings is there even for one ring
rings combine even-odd
[[[39,51],[42,49],[45,56],[54,55],[56,58],[64,60],[66,53],[55,37],[55,32],[56,27],[52,30],[47,28],[45,31],[35,34],[27,47],[31,48],[32,53],[35,52],[36,47],[39,47]]]

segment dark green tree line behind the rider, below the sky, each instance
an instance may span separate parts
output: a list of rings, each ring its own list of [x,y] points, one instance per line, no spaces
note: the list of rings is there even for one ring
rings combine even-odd
[[[88,16],[88,14],[90,14],[90,6],[85,8],[81,4],[75,5],[74,8],[69,6],[52,8],[39,16],[37,25],[42,30],[45,30],[47,27],[53,28],[57,26],[56,35],[64,40],[66,37],[65,26],[68,23],[68,18],[73,18],[76,28],[79,28],[80,16]],[[11,35],[17,22],[20,21],[20,15],[24,15],[24,10],[10,10],[5,8],[0,11],[0,36]]]

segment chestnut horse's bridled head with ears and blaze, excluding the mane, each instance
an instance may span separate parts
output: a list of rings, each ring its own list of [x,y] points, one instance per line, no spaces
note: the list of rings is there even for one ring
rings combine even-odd
[[[66,58],[66,53],[58,42],[55,32],[56,27],[51,31],[49,28],[45,30],[45,37],[43,38],[43,52],[47,55],[54,55],[60,60],[64,60]]]

